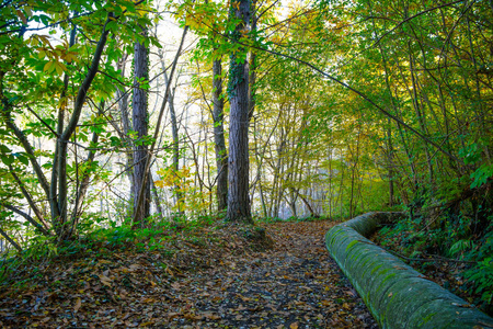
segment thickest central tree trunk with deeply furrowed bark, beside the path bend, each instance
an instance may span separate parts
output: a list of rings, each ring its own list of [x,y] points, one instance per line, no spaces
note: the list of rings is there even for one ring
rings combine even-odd
[[[237,8],[234,14],[241,19],[241,22],[233,32],[233,41],[238,41],[242,32],[248,29],[250,0],[240,0]],[[240,49],[240,52],[245,50]],[[228,91],[231,109],[227,219],[253,223],[249,197],[249,69],[246,61],[241,61],[237,54],[231,55]]]

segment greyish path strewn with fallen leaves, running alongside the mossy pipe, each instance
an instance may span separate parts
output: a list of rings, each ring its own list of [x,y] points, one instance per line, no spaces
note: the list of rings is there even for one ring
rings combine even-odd
[[[195,300],[199,315],[188,328],[378,328],[324,247],[333,225],[264,225],[273,249],[227,256],[223,266],[175,283],[170,294]],[[185,319],[176,320],[185,328]]]

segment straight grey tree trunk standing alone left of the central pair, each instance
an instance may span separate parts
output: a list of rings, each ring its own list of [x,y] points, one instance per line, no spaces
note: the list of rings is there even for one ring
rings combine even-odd
[[[142,143],[142,138],[147,136],[148,115],[147,105],[148,97],[147,90],[140,88],[139,80],[149,80],[148,67],[148,49],[144,44],[136,43],[134,47],[134,98],[131,103],[134,131],[137,132],[138,143],[134,146],[134,225],[142,222],[149,216],[150,205],[150,184],[149,180],[145,180],[146,158],[148,157],[147,145]],[[138,206],[140,188],[142,189],[144,203]]]

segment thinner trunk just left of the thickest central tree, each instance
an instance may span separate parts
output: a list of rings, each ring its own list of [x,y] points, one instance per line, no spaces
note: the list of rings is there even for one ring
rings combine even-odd
[[[225,100],[222,98],[222,66],[221,60],[216,59],[213,64],[213,120],[214,143],[216,145],[217,164],[217,209],[226,211],[228,206],[228,154],[225,140]]]

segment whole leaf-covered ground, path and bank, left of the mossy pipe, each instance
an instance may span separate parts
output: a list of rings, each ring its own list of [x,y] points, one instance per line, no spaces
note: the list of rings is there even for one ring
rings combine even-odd
[[[16,264],[0,327],[378,328],[324,248],[334,224],[213,224]]]

